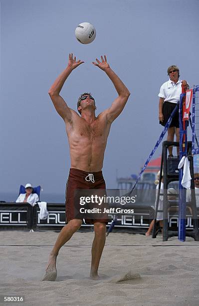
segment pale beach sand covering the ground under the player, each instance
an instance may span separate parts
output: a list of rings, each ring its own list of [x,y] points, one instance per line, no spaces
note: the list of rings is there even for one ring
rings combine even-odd
[[[25,295],[9,305],[199,305],[199,241],[191,237],[163,242],[161,235],[110,233],[102,279],[91,280],[93,232],[76,232],[59,252],[56,281],[41,281],[57,235],[0,231],[0,295]],[[124,274],[130,279],[119,281]]]

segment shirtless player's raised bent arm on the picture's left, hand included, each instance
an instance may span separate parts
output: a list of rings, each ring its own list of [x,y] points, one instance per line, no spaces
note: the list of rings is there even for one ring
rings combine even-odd
[[[56,111],[64,119],[64,121],[71,120],[71,108],[68,107],[64,99],[60,96],[59,92],[61,91],[61,88],[63,87],[63,84],[68,75],[72,72],[73,69],[78,67],[83,62],[84,61],[81,61],[80,59],[76,61],[76,56],[73,58],[73,54],[70,53],[67,67],[56,78],[48,91]]]

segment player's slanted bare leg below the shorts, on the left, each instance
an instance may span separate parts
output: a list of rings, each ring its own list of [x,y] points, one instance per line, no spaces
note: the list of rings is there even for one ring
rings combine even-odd
[[[56,259],[61,246],[66,243],[81,226],[82,220],[73,219],[66,224],[60,231],[53,249],[50,252],[46,266],[46,274],[43,280],[55,280],[56,278]]]

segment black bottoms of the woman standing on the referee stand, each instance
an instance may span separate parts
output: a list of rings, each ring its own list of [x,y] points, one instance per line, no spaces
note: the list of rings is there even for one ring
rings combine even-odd
[[[169,117],[171,116],[172,111],[174,110],[174,108],[176,107],[176,103],[172,103],[172,102],[168,102],[165,101],[163,103],[163,116],[164,116],[164,120],[160,121],[160,124],[165,126]],[[172,122],[170,124],[170,127],[179,127],[179,106],[177,108],[177,111],[175,113],[175,115],[173,116]]]

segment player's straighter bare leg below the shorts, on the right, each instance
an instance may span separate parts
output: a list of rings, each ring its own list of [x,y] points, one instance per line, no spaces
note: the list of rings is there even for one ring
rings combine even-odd
[[[95,237],[93,240],[92,250],[91,250],[92,260],[91,260],[90,277],[92,279],[98,279],[99,262],[106,240],[106,223],[95,222],[94,232],[95,232]]]

